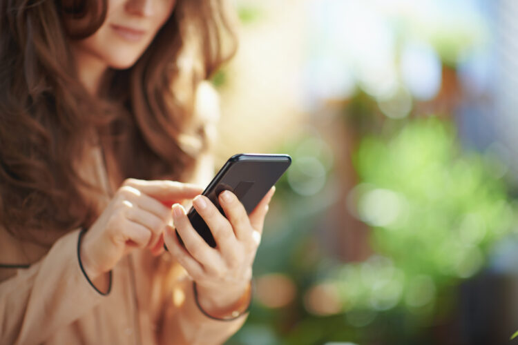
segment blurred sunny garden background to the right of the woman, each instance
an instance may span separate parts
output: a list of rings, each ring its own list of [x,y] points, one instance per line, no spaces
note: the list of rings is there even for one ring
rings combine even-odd
[[[218,167],[293,163],[227,344],[518,344],[518,1],[235,2]]]

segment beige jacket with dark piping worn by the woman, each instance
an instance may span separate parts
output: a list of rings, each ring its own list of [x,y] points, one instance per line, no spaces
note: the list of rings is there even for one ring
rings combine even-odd
[[[98,146],[84,163],[81,173],[104,188],[99,203],[106,204],[111,182]],[[0,227],[0,263],[30,264],[0,268],[0,344],[221,344],[247,317],[203,315],[191,279],[169,253],[124,257],[113,268],[111,292],[100,295],[79,268],[78,235],[70,231],[49,250]]]

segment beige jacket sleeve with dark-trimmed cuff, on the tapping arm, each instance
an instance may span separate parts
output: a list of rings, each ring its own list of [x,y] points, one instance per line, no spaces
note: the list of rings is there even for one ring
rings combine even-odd
[[[79,230],[64,235],[29,268],[0,283],[0,344],[40,344],[106,296],[79,266]]]

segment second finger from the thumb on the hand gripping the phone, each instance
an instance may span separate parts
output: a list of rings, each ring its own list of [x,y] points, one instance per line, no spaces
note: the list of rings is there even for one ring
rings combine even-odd
[[[220,210],[216,208],[212,201],[204,195],[195,197],[193,206],[211,229],[211,233],[221,253],[228,258],[228,255],[233,253],[238,244],[232,224],[220,213]]]

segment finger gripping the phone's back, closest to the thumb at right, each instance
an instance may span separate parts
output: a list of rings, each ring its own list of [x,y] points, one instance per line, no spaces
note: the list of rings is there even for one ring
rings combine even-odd
[[[245,242],[251,241],[252,229],[247,210],[244,209],[238,197],[230,190],[224,190],[223,193],[220,193],[218,198],[220,199],[220,205],[227,219],[229,219],[230,224],[232,224],[232,228],[238,240]]]

